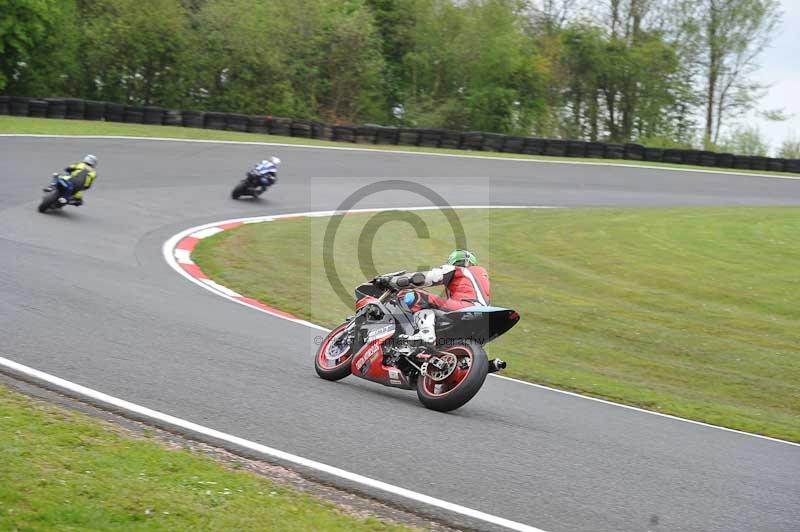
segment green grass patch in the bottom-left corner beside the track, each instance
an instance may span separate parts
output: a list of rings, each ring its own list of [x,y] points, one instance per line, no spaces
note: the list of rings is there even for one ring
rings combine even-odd
[[[0,386],[0,530],[405,530]]]

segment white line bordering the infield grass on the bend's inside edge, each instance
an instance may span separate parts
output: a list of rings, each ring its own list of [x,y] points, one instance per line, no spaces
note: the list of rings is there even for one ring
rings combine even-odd
[[[387,207],[387,208],[375,208],[375,209],[353,209],[353,210],[347,211],[347,212],[350,212],[350,213],[370,213],[370,212],[381,212],[381,211],[392,211],[392,210],[424,211],[424,210],[432,210],[432,209],[438,209],[438,208],[439,207],[437,207],[437,206]],[[524,205],[456,205],[456,206],[453,206],[451,208],[453,208],[453,209],[557,209],[557,208],[560,208],[560,207],[542,206],[542,205],[540,205],[540,206],[524,206]],[[202,286],[206,290],[214,292],[215,294],[220,295],[222,297],[225,297],[226,299],[229,299],[229,300],[231,300],[231,301],[233,301],[235,303],[239,303],[241,305],[245,305],[247,307],[253,308],[253,309],[258,310],[260,312],[263,312],[265,314],[269,314],[271,316],[275,316],[276,318],[281,318],[283,320],[288,320],[288,321],[291,321],[291,322],[294,322],[294,323],[299,323],[301,325],[305,325],[307,327],[312,327],[312,328],[320,330],[320,331],[329,332],[330,329],[326,329],[325,327],[321,327],[319,325],[316,325],[314,323],[310,323],[310,322],[305,321],[305,320],[300,320],[300,319],[296,319],[296,318],[290,318],[290,317],[287,317],[287,316],[283,316],[281,314],[270,312],[268,310],[260,309],[258,307],[253,307],[252,305],[250,305],[250,304],[248,304],[246,302],[239,301],[237,299],[233,299],[231,297],[228,297],[225,293],[223,293],[221,291],[214,290],[212,287],[209,287],[207,284],[203,283],[201,280],[192,277],[188,272],[186,272],[183,268],[181,268],[180,265],[178,264],[178,260],[177,260],[176,256],[173,255],[173,250],[174,250],[175,246],[177,245],[177,243],[180,242],[183,238],[185,238],[187,236],[194,236],[194,234],[196,232],[198,232],[198,231],[202,231],[202,230],[205,230],[205,229],[208,229],[208,228],[212,228],[212,227],[217,227],[217,226],[220,226],[220,225],[239,223],[239,222],[241,222],[243,224],[252,224],[252,223],[260,223],[260,222],[268,222],[268,221],[280,220],[280,219],[283,219],[283,218],[298,218],[298,217],[315,218],[315,217],[322,217],[322,216],[330,216],[330,215],[332,215],[334,213],[335,213],[335,211],[314,211],[314,212],[302,212],[302,213],[287,213],[287,214],[278,214],[278,215],[273,215],[273,216],[254,216],[254,217],[249,217],[249,218],[234,218],[234,219],[231,219],[231,220],[222,220],[222,221],[219,221],[219,222],[211,222],[211,223],[207,223],[207,224],[203,224],[203,225],[198,225],[197,227],[191,227],[189,229],[181,231],[180,233],[174,235],[169,240],[164,242],[164,246],[162,247],[162,253],[163,253],[163,256],[164,256],[164,260],[167,261],[167,264],[169,264],[172,267],[173,270],[175,270],[176,272],[180,273],[185,278],[189,279],[190,281],[192,281],[193,283],[197,284],[198,286]],[[215,232],[215,234],[216,234],[216,232]],[[178,251],[180,251],[180,250],[174,250],[175,253],[177,253]],[[489,376],[490,377],[495,377],[495,378],[498,378],[498,379],[502,379],[502,380],[505,380],[505,381],[515,382],[517,384],[523,384],[525,386],[533,386],[534,388],[539,388],[541,390],[547,390],[547,391],[550,391],[550,392],[555,392],[555,393],[559,393],[559,394],[563,394],[563,395],[569,395],[571,397],[577,397],[577,398],[580,398],[580,399],[586,399],[586,400],[589,400],[589,401],[595,401],[595,402],[598,402],[598,403],[603,403],[603,404],[607,404],[607,405],[611,405],[611,406],[616,406],[616,407],[619,407],[619,408],[625,408],[625,409],[628,409],[628,410],[633,410],[633,411],[641,412],[641,413],[644,413],[644,414],[650,414],[650,415],[653,415],[653,416],[659,416],[659,417],[663,417],[663,418],[667,418],[667,419],[672,419],[672,420],[675,420],[675,421],[682,421],[684,423],[691,423],[693,425],[699,425],[701,427],[708,427],[708,428],[717,429],[717,430],[724,430],[726,432],[732,432],[732,433],[735,433],[735,434],[741,434],[741,435],[744,435],[744,436],[750,436],[750,437],[759,438],[759,439],[762,439],[762,440],[768,440],[768,441],[772,441],[772,442],[783,443],[783,444],[786,444],[786,445],[792,445],[792,446],[795,446],[795,447],[800,447],[800,443],[795,443],[795,442],[791,442],[791,441],[787,441],[787,440],[781,440],[781,439],[778,439],[778,438],[771,438],[769,436],[764,436],[764,435],[761,435],[761,434],[754,434],[752,432],[745,432],[745,431],[742,431],[742,430],[731,429],[731,428],[728,428],[728,427],[722,427],[720,425],[712,425],[710,423],[704,423],[702,421],[696,421],[694,419],[686,419],[686,418],[682,418],[682,417],[678,417],[678,416],[673,416],[673,415],[670,415],[670,414],[664,414],[664,413],[661,413],[661,412],[654,412],[652,410],[646,410],[644,408],[639,408],[639,407],[636,407],[636,406],[625,405],[625,404],[621,404],[621,403],[614,403],[612,401],[607,401],[605,399],[599,399],[597,397],[590,397],[588,395],[581,395],[581,394],[578,394],[578,393],[575,393],[575,392],[569,392],[569,391],[566,391],[566,390],[560,390],[558,388],[551,388],[551,387],[545,386],[543,384],[536,384],[536,383],[532,383],[532,382],[521,381],[521,380],[518,380],[518,379],[513,379],[511,377],[505,377],[503,375],[497,375],[495,373],[492,373]]]

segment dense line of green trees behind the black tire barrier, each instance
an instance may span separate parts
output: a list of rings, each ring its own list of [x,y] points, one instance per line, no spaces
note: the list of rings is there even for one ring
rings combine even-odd
[[[777,0],[0,0],[0,92],[759,151],[723,132],[779,20]]]

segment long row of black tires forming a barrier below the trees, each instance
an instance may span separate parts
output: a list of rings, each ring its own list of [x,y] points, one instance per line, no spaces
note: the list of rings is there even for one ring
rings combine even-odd
[[[451,150],[494,151],[591,159],[627,159],[707,168],[800,174],[800,159],[756,157],[678,148],[650,148],[635,143],[545,139],[483,131],[397,128],[375,124],[331,125],[313,120],[295,120],[269,115],[164,109],[156,106],[125,105],[79,98],[29,98],[0,95],[0,115],[105,120],[129,124],[220,129],[357,144],[422,146]]]

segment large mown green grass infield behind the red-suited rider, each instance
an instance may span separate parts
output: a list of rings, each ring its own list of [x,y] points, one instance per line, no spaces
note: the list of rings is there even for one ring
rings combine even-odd
[[[431,238],[383,225],[378,271],[443,262],[449,225],[418,214]],[[492,302],[522,315],[489,345],[508,360],[506,375],[800,441],[800,209],[459,214],[489,268]],[[372,216],[345,216],[336,237],[348,289],[370,273],[355,250]],[[328,221],[243,226],[202,240],[193,257],[240,293],[333,326],[352,311],[321,265]]]

